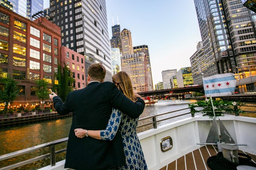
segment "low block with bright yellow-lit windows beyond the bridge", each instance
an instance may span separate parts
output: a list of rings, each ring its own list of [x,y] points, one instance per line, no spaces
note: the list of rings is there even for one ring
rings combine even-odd
[[[191,67],[181,68],[177,72],[176,78],[177,78],[178,88],[194,84],[193,77],[192,77]]]

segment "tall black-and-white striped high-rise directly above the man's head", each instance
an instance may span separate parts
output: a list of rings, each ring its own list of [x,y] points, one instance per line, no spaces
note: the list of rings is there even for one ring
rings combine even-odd
[[[107,70],[105,81],[112,81],[106,1],[50,0],[50,16],[61,28],[62,46],[84,55],[85,68],[102,63]]]

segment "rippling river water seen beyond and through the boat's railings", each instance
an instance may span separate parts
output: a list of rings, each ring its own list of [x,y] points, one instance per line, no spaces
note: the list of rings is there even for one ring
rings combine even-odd
[[[194,102],[196,101],[195,100],[158,101],[158,103],[146,105],[144,112],[142,113],[140,118],[187,108],[189,103],[194,103]],[[185,111],[171,113],[168,115],[159,116],[157,120],[170,117],[170,116],[175,116],[182,113],[186,113],[186,112],[189,112],[189,109]],[[191,115],[188,114],[188,115],[184,115],[174,119],[159,122],[157,126],[174,122],[180,119],[188,118],[188,117],[191,117]],[[139,125],[147,122],[149,121],[139,122]],[[4,154],[15,152],[21,149],[47,143],[53,140],[58,140],[61,138],[68,137],[71,123],[72,123],[72,117],[68,117],[68,118],[62,118],[58,120],[48,120],[45,122],[31,123],[28,125],[19,125],[19,126],[1,128],[0,129],[0,136],[1,136],[0,137],[0,155],[4,155]],[[142,127],[137,129],[137,131],[141,132],[149,128],[152,128],[152,126]],[[65,146],[66,146],[66,143],[57,145],[56,150],[59,150],[59,148],[64,148]],[[32,157],[43,155],[46,153],[49,153],[49,148],[38,150],[30,154],[17,156],[17,157],[0,162],[0,168],[32,158]],[[65,158],[65,153],[62,153],[56,156],[57,161],[63,160],[64,158]],[[50,162],[49,159],[44,159],[35,163],[31,163],[25,167],[23,166],[16,169],[38,169],[39,167],[49,165],[49,162]]]

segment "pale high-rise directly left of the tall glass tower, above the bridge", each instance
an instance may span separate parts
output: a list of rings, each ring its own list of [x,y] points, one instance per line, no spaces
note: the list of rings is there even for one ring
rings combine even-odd
[[[197,51],[190,57],[190,64],[194,84],[203,84],[202,73],[207,71],[203,42],[197,42]]]

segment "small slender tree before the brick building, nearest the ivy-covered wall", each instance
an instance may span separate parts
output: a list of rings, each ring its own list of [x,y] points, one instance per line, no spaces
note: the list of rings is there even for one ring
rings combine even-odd
[[[49,91],[47,89],[49,83],[46,80],[37,80],[36,84],[36,96],[42,99],[42,110],[44,110],[44,100],[49,98]]]

